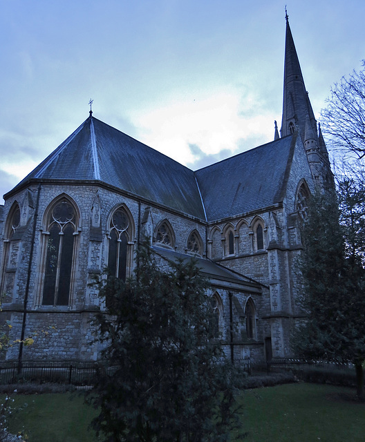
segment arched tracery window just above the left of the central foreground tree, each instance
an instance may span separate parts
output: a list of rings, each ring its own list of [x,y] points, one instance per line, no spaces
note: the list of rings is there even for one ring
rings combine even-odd
[[[108,269],[111,276],[126,280],[128,267],[128,242],[131,237],[131,222],[124,207],[117,209],[109,224]]]

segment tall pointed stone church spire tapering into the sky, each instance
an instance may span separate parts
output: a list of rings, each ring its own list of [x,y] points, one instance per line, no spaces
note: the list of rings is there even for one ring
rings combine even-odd
[[[312,105],[306,92],[301,67],[295,49],[292,31],[289,26],[289,17],[286,12],[286,46],[284,62],[284,92],[283,92],[283,117],[281,121],[281,136],[292,133],[292,128],[299,126],[301,137],[306,131],[306,119],[309,117],[310,126],[317,137],[317,122]],[[302,140],[304,142],[304,140]]]

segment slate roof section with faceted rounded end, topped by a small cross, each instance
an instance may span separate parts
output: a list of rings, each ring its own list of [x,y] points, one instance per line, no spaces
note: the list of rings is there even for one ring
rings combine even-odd
[[[193,171],[92,116],[15,189],[32,179],[103,182],[205,219]]]

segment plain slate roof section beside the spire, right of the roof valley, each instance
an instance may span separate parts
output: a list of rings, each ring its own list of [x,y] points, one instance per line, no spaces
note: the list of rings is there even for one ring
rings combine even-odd
[[[209,221],[264,209],[283,200],[297,134],[196,171]]]

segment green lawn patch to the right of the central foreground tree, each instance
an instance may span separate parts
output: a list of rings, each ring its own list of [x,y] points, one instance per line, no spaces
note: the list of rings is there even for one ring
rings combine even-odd
[[[247,442],[365,441],[365,404],[355,389],[296,383],[245,391]]]

